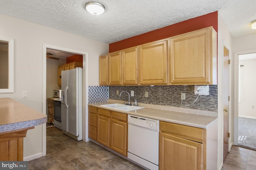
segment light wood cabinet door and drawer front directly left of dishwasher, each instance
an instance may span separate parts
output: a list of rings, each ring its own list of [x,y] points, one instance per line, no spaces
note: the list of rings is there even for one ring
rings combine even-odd
[[[111,112],[110,148],[127,156],[127,114]]]

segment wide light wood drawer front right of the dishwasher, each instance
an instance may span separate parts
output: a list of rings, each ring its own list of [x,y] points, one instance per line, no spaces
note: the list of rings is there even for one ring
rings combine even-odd
[[[189,127],[168,122],[160,122],[160,130],[161,132],[200,143],[204,141],[204,133],[206,132],[205,129],[202,128]]]

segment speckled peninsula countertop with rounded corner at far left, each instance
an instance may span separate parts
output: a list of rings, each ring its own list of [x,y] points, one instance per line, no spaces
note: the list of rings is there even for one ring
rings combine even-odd
[[[13,99],[0,98],[0,132],[34,127],[46,121],[45,114]]]

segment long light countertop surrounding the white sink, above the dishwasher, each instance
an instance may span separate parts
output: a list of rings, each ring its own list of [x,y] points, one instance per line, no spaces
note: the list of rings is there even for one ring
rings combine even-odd
[[[170,123],[177,123],[180,125],[187,125],[191,127],[207,128],[213,121],[217,120],[218,113],[212,111],[202,111],[196,109],[185,109],[178,107],[166,107],[160,105],[148,105],[139,103],[139,106],[145,107],[144,109],[138,109],[135,111],[120,111],[114,108],[106,108],[100,105],[120,103],[120,101],[109,100],[107,103],[93,103],[88,104],[92,107],[98,107],[101,109],[107,109],[120,113],[126,113],[129,115],[136,115],[140,117],[146,117],[150,119],[156,119],[159,121],[166,121]],[[208,116],[210,115],[210,116]]]

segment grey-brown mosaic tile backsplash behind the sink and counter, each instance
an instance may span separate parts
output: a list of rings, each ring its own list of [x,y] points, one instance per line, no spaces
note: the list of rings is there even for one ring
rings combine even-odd
[[[218,86],[209,85],[210,95],[200,95],[196,102],[189,109],[199,109],[206,111],[218,111]],[[89,103],[105,102],[108,99],[128,101],[128,94],[122,93],[121,97],[116,95],[122,91],[134,91],[134,97],[130,97],[131,101],[136,99],[138,103],[146,103],[153,105],[164,105],[183,107],[181,105],[180,93],[186,93],[186,99],[183,105],[190,105],[194,102],[197,95],[194,95],[194,85],[166,85],[166,86],[90,86],[89,87]],[[108,91],[108,93],[106,92]],[[145,97],[145,91],[148,91],[148,97]],[[98,99],[97,99],[98,97]]]

